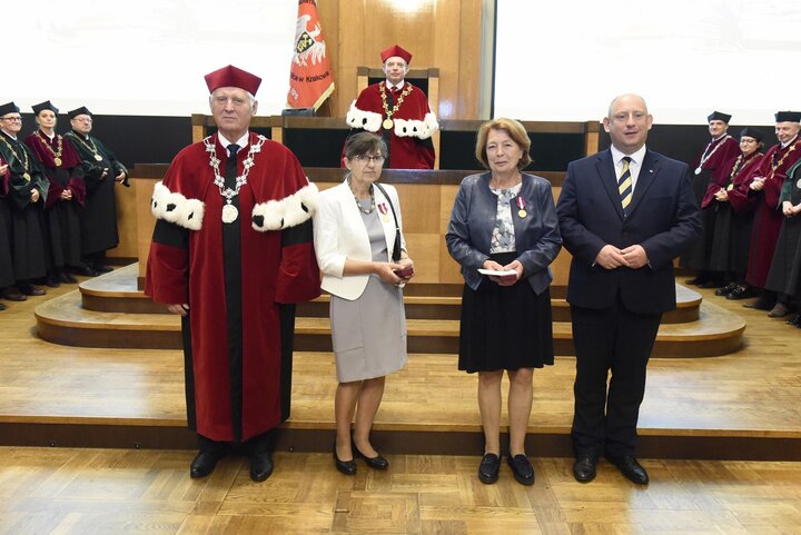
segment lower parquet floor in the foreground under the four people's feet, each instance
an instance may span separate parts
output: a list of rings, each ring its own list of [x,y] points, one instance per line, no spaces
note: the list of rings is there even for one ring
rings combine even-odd
[[[0,534],[801,534],[801,463],[646,460],[639,487],[607,464],[582,485],[570,459],[536,458],[523,487],[506,466],[483,485],[477,457],[390,455],[346,477],[330,455],[279,453],[255,484],[241,458],[192,480],[192,455],[0,448]]]

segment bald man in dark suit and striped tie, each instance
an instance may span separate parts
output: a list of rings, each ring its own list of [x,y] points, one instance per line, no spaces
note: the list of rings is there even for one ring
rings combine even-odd
[[[662,313],[675,308],[673,259],[701,229],[688,166],[645,148],[652,123],[642,97],[615,98],[603,120],[612,147],[567,166],[556,206],[573,255],[580,482],[595,477],[602,454],[632,482],[649,482],[635,457],[645,369]]]

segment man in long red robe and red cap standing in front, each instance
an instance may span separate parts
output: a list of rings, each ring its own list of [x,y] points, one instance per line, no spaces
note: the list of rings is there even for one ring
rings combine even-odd
[[[206,76],[217,133],[182,149],[156,185],[145,293],[181,315],[191,477],[229,444],[250,477],[273,473],[271,429],[289,416],[295,304],[319,295],[312,240],[317,188],[283,145],[248,130],[261,82]]]

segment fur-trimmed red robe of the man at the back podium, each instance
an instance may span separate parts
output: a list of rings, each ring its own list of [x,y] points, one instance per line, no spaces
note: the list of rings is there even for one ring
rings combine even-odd
[[[387,131],[382,126],[382,122],[386,119],[380,98],[382,85],[386,85],[386,81],[368,86],[359,93],[358,98],[350,105],[350,110],[346,117],[347,123],[350,128],[389,137],[387,143],[389,146],[389,161],[385,167],[392,167],[393,169],[434,169],[435,155],[431,135],[438,128],[438,123],[428,107],[428,98],[422,89],[404,82],[403,89],[406,89],[406,86],[412,86],[412,92],[404,98],[397,112],[393,115],[392,118],[395,125]],[[393,106],[389,106],[390,110],[392,108]]]

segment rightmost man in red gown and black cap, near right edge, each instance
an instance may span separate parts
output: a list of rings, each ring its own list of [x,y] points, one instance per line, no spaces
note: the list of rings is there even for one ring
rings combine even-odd
[[[753,171],[750,186],[750,194],[756,198],[756,212],[754,214],[751,258],[745,279],[749,285],[762,288],[762,293],[756,301],[744,306],[771,310],[772,316],[784,315],[779,314],[781,310],[773,311],[777,295],[774,291],[765,290],[764,287],[784,218],[779,207],[782,185],[787,179],[787,171],[801,158],[800,120],[801,112],[799,111],[778,111],[775,113],[775,133],[779,143],[768,149],[762,158],[762,164]]]

